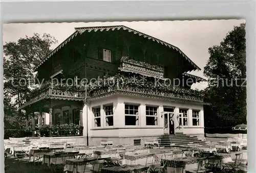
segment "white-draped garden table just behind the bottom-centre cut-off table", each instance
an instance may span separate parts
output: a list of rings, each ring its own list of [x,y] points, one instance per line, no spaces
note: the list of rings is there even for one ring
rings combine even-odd
[[[147,163],[154,161],[154,153],[139,153],[139,154],[131,154],[131,155],[124,155],[122,164],[123,165],[146,165]]]

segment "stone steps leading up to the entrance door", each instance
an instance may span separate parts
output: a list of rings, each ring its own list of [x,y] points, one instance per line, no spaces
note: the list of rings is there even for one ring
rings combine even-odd
[[[203,143],[201,139],[186,134],[161,135],[158,138],[160,146],[171,147],[172,145],[186,145],[188,143]]]

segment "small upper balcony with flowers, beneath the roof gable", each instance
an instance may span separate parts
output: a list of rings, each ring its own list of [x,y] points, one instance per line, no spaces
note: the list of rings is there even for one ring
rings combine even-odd
[[[118,69],[125,72],[134,72],[143,76],[154,77],[159,79],[163,79],[164,75],[163,67],[132,60],[128,57],[121,58],[121,65]]]

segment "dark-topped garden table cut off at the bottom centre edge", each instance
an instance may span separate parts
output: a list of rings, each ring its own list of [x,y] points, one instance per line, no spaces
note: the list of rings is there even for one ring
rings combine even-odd
[[[140,172],[147,172],[148,166],[144,165],[127,165],[127,166],[114,166],[105,167],[101,169],[101,173],[133,173],[134,170],[140,170]],[[137,171],[138,172],[138,171]]]

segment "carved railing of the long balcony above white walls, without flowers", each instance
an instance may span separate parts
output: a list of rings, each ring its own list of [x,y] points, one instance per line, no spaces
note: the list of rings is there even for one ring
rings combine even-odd
[[[88,94],[88,99],[93,100],[95,98],[104,97],[104,96],[112,95],[115,93],[159,98],[163,100],[176,101],[176,102],[195,102],[195,103],[203,104],[203,98],[195,95],[136,88],[136,87],[126,86],[126,85],[124,86],[115,85],[113,87],[95,90],[90,94]]]

